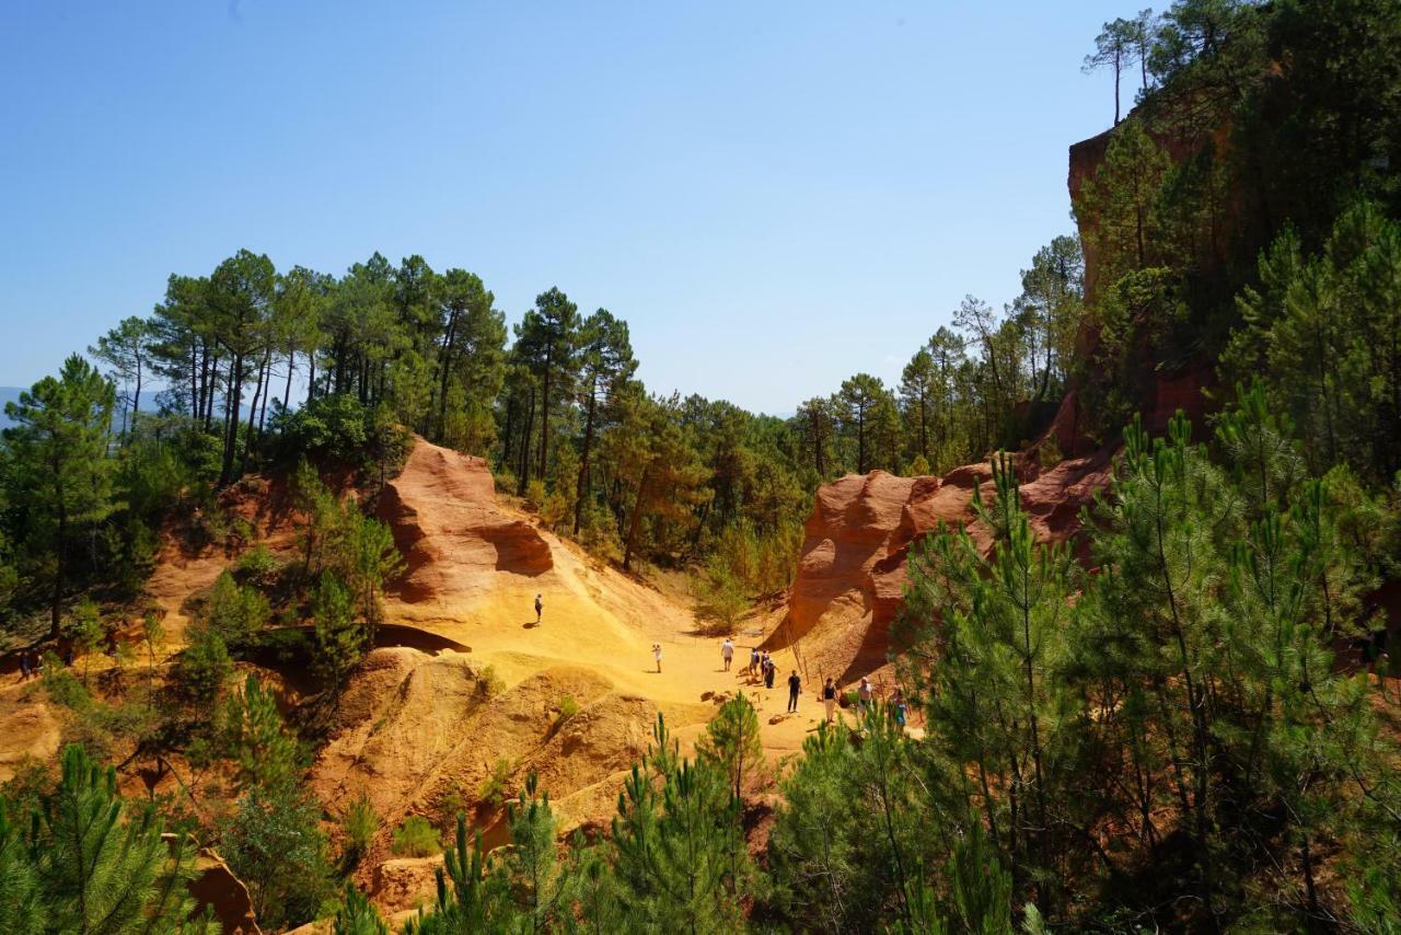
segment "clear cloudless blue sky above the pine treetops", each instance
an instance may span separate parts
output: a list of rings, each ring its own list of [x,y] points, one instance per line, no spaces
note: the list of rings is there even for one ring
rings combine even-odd
[[[7,0],[0,384],[241,247],[558,285],[656,391],[887,381],[1068,233],[1132,4]],[[1131,91],[1125,88],[1126,100]]]

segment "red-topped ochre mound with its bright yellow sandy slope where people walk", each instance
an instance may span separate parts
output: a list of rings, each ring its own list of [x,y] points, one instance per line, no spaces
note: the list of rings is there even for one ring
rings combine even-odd
[[[558,666],[579,666],[621,695],[646,698],[678,739],[699,733],[716,694],[748,691],[759,709],[765,747],[793,753],[817,726],[817,685],[804,684],[800,715],[783,716],[792,650],[780,650],[772,690],[748,685],[748,649],[771,629],[736,639],[731,671],[720,638],[698,636],[696,621],[654,587],[587,555],[539,527],[537,517],[500,502],[481,458],[417,442],[381,498],[408,571],[385,600],[388,620],[441,634],[472,648],[507,685]],[[544,614],[535,622],[535,596]],[[661,673],[651,645],[661,643]]]

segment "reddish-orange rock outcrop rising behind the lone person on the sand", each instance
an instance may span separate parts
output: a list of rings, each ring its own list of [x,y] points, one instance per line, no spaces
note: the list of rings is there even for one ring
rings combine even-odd
[[[469,594],[495,572],[534,576],[553,566],[539,530],[497,507],[485,460],[422,439],[380,495],[378,513],[403,554],[395,589],[406,603]]]

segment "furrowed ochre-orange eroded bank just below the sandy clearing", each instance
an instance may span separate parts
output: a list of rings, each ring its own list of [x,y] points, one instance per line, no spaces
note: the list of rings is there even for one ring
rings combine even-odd
[[[566,697],[576,705],[567,719],[560,715]],[[346,685],[310,782],[338,814],[360,796],[370,800],[382,827],[359,879],[382,907],[406,908],[420,887],[405,880],[422,868],[382,864],[391,830],[406,816],[450,828],[455,813],[465,812],[483,828],[486,847],[503,844],[502,813],[483,795],[504,760],[503,792],[516,795],[535,772],[551,792],[560,830],[573,830],[611,813],[656,719],[654,702],[619,694],[583,667],[549,667],[502,688],[467,653],[375,649]],[[389,876],[370,878],[381,864]]]

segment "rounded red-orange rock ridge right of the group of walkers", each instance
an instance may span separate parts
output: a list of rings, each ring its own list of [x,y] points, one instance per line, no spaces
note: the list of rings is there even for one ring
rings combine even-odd
[[[1108,484],[1111,467],[1108,451],[1047,471],[1019,461],[1021,503],[1037,537],[1070,538],[1080,528],[1080,507]],[[824,484],[804,527],[787,617],[766,645],[793,646],[808,678],[831,676],[839,684],[885,664],[911,547],[940,524],[971,527],[975,486],[991,499],[989,464],[969,464],[941,478],[871,471]],[[981,538],[976,528],[969,531]]]

